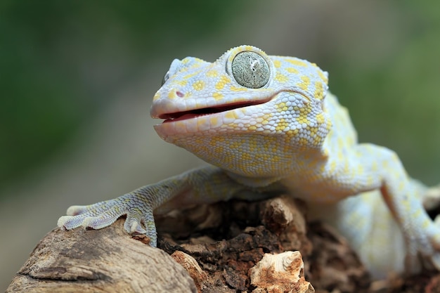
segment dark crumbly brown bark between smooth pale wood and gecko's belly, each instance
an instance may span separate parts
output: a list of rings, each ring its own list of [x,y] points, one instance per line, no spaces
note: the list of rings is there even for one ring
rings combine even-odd
[[[287,196],[174,211],[157,219],[159,245],[169,254],[181,251],[195,258],[208,275],[202,292],[261,292],[251,283],[250,269],[265,253],[285,251],[302,254],[305,280],[315,289],[367,292],[368,273],[347,243],[327,226],[307,225],[305,214],[305,205]]]

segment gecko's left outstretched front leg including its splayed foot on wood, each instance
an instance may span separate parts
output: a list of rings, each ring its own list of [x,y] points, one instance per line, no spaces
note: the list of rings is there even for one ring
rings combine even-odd
[[[164,202],[166,209],[229,200],[245,186],[233,181],[216,167],[204,167],[186,171],[155,184],[145,185],[131,193],[85,206],[72,206],[67,216],[58,219],[58,227],[71,230],[84,228],[101,229],[110,226],[119,216],[127,215],[124,229],[131,235],[144,234],[150,245],[157,245],[157,233],[153,211]]]

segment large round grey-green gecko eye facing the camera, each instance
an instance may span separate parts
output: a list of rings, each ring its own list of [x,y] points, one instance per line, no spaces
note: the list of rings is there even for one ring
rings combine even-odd
[[[232,60],[231,67],[235,81],[249,89],[259,89],[269,81],[269,66],[259,53],[238,53]]]

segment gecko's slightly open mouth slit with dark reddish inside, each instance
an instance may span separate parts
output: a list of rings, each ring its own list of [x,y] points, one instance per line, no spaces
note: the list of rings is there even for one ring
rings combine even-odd
[[[252,101],[252,102],[238,102],[238,103],[231,103],[228,105],[219,105],[214,107],[207,107],[207,108],[200,108],[200,109],[194,109],[194,110],[188,110],[183,112],[175,112],[175,113],[166,113],[159,116],[160,119],[165,119],[164,123],[167,122],[176,122],[184,119],[193,119],[196,117],[202,117],[206,115],[212,115],[219,112],[226,112],[229,110],[235,110],[238,108],[244,108],[252,105],[259,105],[266,103],[268,100],[259,100],[259,101]]]

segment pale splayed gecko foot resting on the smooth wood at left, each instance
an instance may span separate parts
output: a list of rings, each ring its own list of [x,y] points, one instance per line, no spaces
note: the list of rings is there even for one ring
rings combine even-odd
[[[85,206],[72,206],[67,216],[58,219],[58,227],[63,230],[83,228],[101,229],[110,226],[119,216],[127,215],[124,230],[131,235],[147,235],[150,245],[157,245],[157,233],[153,218],[153,208],[145,197],[127,193],[115,200],[106,200]]]

